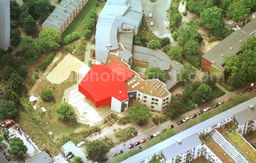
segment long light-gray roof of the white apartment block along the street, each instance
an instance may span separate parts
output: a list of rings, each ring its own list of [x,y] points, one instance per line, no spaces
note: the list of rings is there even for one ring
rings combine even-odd
[[[135,163],[135,162],[141,161],[159,151],[165,151],[164,156],[168,157],[168,158],[172,158],[172,157],[176,156],[177,154],[174,153],[174,154],[176,154],[176,155],[174,155],[171,150],[165,150],[165,148],[168,148],[169,146],[175,144],[177,139],[180,139],[183,141],[183,140],[187,139],[190,135],[195,135],[198,132],[201,132],[202,130],[205,130],[206,128],[208,128],[210,126],[213,126],[214,124],[216,124],[220,121],[223,121],[224,119],[227,119],[228,117],[230,117],[232,115],[236,115],[240,112],[243,112],[244,110],[247,110],[249,108],[248,105],[250,105],[250,104],[252,104],[252,105],[254,105],[254,107],[256,107],[256,97],[254,97],[244,103],[241,103],[227,111],[224,111],[210,119],[207,119],[206,121],[201,122],[185,131],[182,131],[182,132],[170,137],[169,139],[166,139],[165,141],[162,141],[162,142],[122,161],[122,163],[131,163],[131,162]],[[253,114],[256,115],[256,111],[254,111]],[[244,116],[242,118],[242,120],[249,121],[249,120],[251,120],[251,117]],[[194,139],[192,141],[197,141],[197,140]],[[197,143],[195,143],[195,144],[197,144]],[[194,147],[194,144],[192,144],[190,142],[190,143],[186,143],[186,144],[184,143],[184,146],[175,146],[175,149],[172,149],[172,150],[186,151],[186,148],[192,148],[192,147]]]

